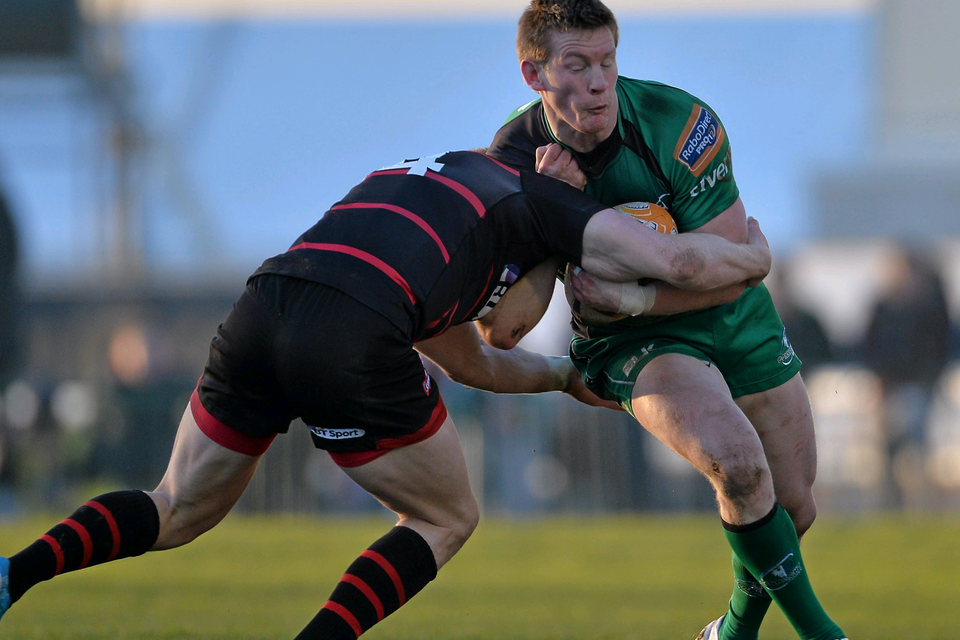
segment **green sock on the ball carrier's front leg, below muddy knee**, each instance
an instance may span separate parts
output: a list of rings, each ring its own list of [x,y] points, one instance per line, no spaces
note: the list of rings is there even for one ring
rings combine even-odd
[[[759,578],[803,640],[845,637],[813,593],[797,530],[779,504],[758,522],[742,526],[724,522],[723,528],[734,554]]]

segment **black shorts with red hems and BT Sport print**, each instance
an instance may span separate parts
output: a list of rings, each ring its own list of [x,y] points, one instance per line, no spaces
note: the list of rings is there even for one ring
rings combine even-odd
[[[393,323],[336,289],[274,275],[252,279],[220,325],[190,404],[207,436],[249,455],[301,418],[341,466],[425,440],[447,413]]]

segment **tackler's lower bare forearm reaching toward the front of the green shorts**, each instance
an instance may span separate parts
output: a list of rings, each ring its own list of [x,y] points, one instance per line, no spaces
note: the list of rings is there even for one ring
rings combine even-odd
[[[544,356],[520,347],[495,349],[480,339],[474,323],[451,327],[414,346],[451,380],[468,387],[494,393],[562,391],[585,404],[618,408],[593,395],[566,356]]]

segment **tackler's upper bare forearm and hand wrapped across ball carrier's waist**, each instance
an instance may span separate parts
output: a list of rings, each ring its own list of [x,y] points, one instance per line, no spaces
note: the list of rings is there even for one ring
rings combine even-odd
[[[580,264],[605,280],[646,277],[708,291],[760,280],[770,261],[770,247],[753,218],[747,221],[746,244],[735,244],[710,233],[665,235],[605,209],[584,229]]]

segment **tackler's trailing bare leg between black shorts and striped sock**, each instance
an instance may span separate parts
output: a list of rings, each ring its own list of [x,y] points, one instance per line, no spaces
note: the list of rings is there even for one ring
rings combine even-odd
[[[154,550],[185,544],[227,515],[257,469],[260,456],[217,444],[188,406],[180,420],[166,473],[149,495],[160,516]]]

